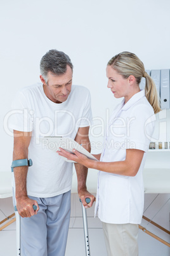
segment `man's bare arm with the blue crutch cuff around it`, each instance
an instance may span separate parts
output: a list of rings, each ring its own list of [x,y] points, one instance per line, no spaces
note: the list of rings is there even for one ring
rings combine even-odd
[[[13,133],[13,160],[28,159],[32,132],[20,132],[14,130]],[[14,168],[16,208],[20,216],[23,218],[37,214],[37,211],[39,210],[37,201],[34,201],[27,196],[27,172],[28,166]],[[36,211],[32,208],[33,204],[37,206]]]

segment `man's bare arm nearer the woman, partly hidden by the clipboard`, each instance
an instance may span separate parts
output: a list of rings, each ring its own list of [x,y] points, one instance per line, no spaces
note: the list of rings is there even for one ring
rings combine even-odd
[[[91,151],[91,146],[89,142],[89,126],[88,127],[80,127],[77,135],[75,136],[75,141],[83,146],[83,148],[86,148],[88,152]],[[84,207],[88,208],[91,207],[93,202],[95,201],[95,196],[90,194],[86,187],[86,179],[88,175],[88,168],[85,166],[82,166],[81,164],[75,163],[75,171],[77,173],[77,190],[79,197],[82,201],[82,204]],[[89,197],[91,199],[91,202],[89,204],[86,203],[85,199],[86,197]]]

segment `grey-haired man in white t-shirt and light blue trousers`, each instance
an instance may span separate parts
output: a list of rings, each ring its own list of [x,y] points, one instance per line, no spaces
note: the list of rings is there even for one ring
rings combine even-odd
[[[33,161],[29,171],[27,166],[14,169],[16,208],[22,217],[22,255],[64,256],[73,164],[43,146],[39,138],[69,137],[90,151],[91,99],[88,89],[72,85],[73,66],[65,53],[49,50],[40,68],[42,83],[16,94],[9,120],[13,160]],[[82,204],[91,207],[95,197],[86,189],[88,169],[75,164],[75,170]],[[86,203],[86,197],[91,203]]]

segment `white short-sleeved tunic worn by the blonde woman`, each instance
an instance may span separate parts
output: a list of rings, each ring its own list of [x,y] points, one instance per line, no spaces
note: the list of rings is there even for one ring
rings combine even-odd
[[[143,150],[144,156],[136,176],[123,176],[100,171],[96,209],[102,222],[111,224],[140,224],[143,215],[144,188],[142,171],[146,152],[154,132],[155,115],[144,90],[128,103],[124,100],[115,109],[106,131],[101,161],[126,159],[126,149]]]

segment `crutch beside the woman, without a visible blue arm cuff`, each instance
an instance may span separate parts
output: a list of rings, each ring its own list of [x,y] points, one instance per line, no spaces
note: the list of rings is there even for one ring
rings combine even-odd
[[[89,204],[91,200],[89,197],[87,197],[85,201],[87,204]],[[80,202],[81,202],[81,199],[80,199]],[[87,220],[86,208],[83,206],[82,203],[81,203],[81,206],[82,206],[82,218],[83,218],[83,226],[84,226],[84,241],[85,241],[86,256],[90,256],[89,232],[88,232],[88,220]]]

